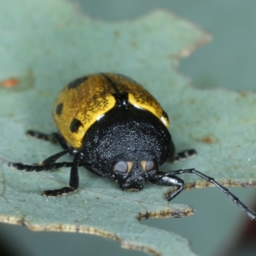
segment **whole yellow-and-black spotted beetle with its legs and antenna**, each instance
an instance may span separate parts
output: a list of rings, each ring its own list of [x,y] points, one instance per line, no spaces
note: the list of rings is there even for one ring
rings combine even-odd
[[[195,150],[175,154],[166,112],[133,79],[118,73],[95,73],[75,79],[57,97],[53,116],[59,132],[27,134],[59,143],[63,150],[39,165],[9,162],[9,166],[26,172],[71,168],[69,186],[46,190],[42,195],[66,195],[77,190],[78,167],[84,166],[116,181],[123,190],[141,190],[145,183],[175,186],[177,189],[166,197],[171,201],[183,190],[184,182],[177,175],[194,173],[228,195],[250,218],[256,218],[228,189],[195,168],[159,171],[167,159],[185,158]],[[72,155],[73,161],[56,163],[65,154]]]

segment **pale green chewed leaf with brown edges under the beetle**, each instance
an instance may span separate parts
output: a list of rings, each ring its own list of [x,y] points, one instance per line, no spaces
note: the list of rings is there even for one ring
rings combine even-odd
[[[137,219],[192,214],[192,207],[165,200],[167,188],[148,184],[139,193],[124,192],[80,168],[77,192],[46,198],[43,190],[67,185],[69,170],[18,172],[7,163],[32,164],[60,151],[26,137],[26,130],[56,130],[51,108],[64,84],[87,73],[114,72],[144,84],[161,102],[177,150],[198,152],[162,170],[195,167],[224,184],[254,185],[256,96],[195,90],[176,71],[178,58],[209,41],[207,33],[160,10],[120,23],[90,20],[63,0],[6,1],[0,19],[0,220],[32,230],[106,236],[155,255],[195,255],[189,241]],[[7,88],[10,78],[18,84]],[[208,185],[183,177],[188,188]]]

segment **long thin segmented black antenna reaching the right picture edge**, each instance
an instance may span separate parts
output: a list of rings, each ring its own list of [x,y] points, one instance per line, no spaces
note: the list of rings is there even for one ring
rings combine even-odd
[[[172,174],[172,175],[180,175],[183,173],[194,173],[195,175],[207,180],[207,182],[212,183],[215,187],[217,187],[218,189],[220,189],[225,195],[228,195],[230,197],[230,200],[233,201],[234,203],[236,203],[236,205],[238,207],[241,208],[242,211],[246,212],[247,215],[252,218],[252,219],[256,219],[256,213],[253,212],[252,210],[250,210],[249,208],[247,208],[237,197],[236,195],[232,194],[230,192],[229,189],[226,189],[223,185],[221,185],[220,183],[218,183],[213,177],[209,177],[207,175],[205,175],[204,173],[198,172],[197,170],[195,170],[194,168],[192,169],[184,169],[184,170],[177,170],[177,171],[173,171],[173,172],[167,172],[168,174]]]

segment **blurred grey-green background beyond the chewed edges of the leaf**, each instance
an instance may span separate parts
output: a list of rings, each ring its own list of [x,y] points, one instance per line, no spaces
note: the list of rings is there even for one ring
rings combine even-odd
[[[201,90],[225,87],[256,91],[256,2],[253,0],[69,0],[80,12],[98,20],[134,19],[153,9],[166,9],[201,26],[212,42],[180,61],[178,72]],[[256,211],[256,189],[230,188]],[[191,242],[201,256],[256,255],[256,225],[218,189],[184,191],[173,202],[195,207],[189,218],[148,219],[142,224],[175,232]],[[98,236],[32,232],[0,224],[2,256],[145,255],[123,250]]]

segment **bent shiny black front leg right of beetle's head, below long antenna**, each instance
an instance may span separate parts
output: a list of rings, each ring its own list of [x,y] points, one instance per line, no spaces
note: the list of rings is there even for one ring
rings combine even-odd
[[[171,201],[177,196],[183,190],[184,185],[183,180],[172,175],[172,172],[155,172],[153,175],[149,176],[148,181],[160,186],[176,186],[177,189],[166,198],[168,201]]]

